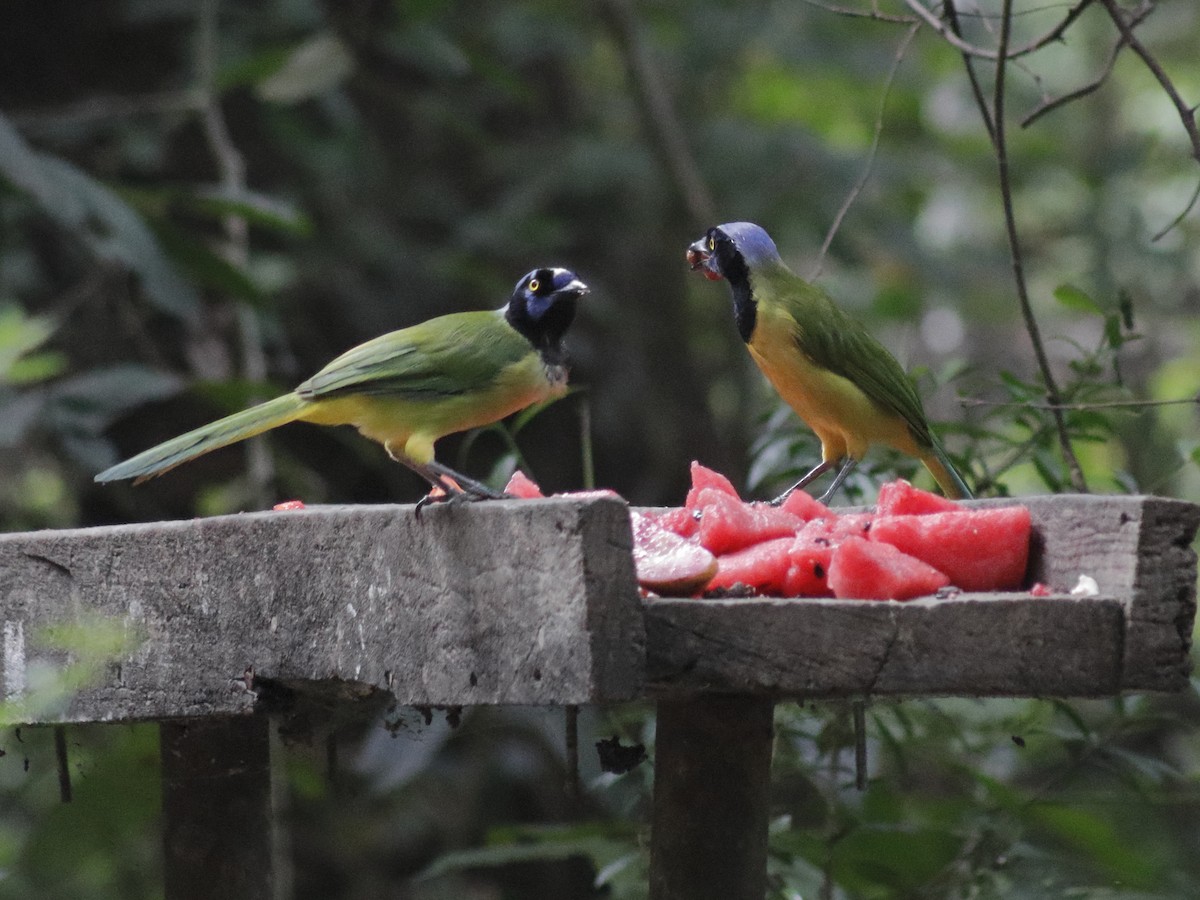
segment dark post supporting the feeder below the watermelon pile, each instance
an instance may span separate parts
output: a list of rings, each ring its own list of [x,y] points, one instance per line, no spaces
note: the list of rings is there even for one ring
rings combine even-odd
[[[650,900],[762,900],[774,701],[658,704]]]

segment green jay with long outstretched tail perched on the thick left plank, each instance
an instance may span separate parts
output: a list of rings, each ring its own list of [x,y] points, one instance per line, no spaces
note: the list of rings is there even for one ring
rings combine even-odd
[[[433,444],[563,396],[563,336],[587,293],[566,269],[535,269],[499,310],[439,316],[367,341],[290,394],[158,444],[101,472],[96,481],[144,481],[210,450],[306,421],[353,425],[446,498],[499,497],[437,462]]]

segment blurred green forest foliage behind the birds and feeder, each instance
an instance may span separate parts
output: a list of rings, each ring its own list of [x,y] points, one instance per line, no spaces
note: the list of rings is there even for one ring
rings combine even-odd
[[[544,264],[593,287],[570,336],[583,390],[448,439],[444,457],[493,478],[520,460],[548,490],[594,473],[643,504],[678,503],[700,458],[767,494],[816,446],[750,367],[726,290],[686,272],[708,208],[822,272],[988,492],[1063,490],[962,60],[928,28],[906,44],[906,26],[833,6],[10,0],[0,524],[413,499],[378,448],[302,425],[258,462],[222,451],[140,488],[91,475],[385,330],[497,307]],[[1195,103],[1200,7],[1153,6],[1138,34]],[[994,46],[1000,8],[964,7],[965,38]],[[1018,46],[1066,14],[1015,10]],[[1096,91],[1019,127],[1103,77],[1115,40],[1092,2],[1010,66],[1025,270],[1091,487],[1200,500],[1200,217],[1154,236],[1200,180],[1180,119],[1127,52]],[[872,456],[852,498],[898,472],[917,474]],[[1195,896],[1198,719],[1195,690],[877,703],[858,793],[847,712],[781,707],[774,895]],[[617,732],[653,754],[648,710],[586,724],[584,748]],[[0,738],[0,898],[160,895],[152,728],[70,734],[70,805],[48,733]],[[457,731],[384,738],[391,754],[377,732],[341,739],[358,762],[337,779],[289,755],[299,896],[643,895],[649,767],[593,763],[572,804],[541,719],[474,710]]]

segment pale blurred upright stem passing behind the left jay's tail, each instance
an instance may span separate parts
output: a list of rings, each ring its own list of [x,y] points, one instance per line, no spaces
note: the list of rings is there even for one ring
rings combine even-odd
[[[216,86],[217,65],[217,13],[220,0],[204,0],[199,10],[197,36],[197,82],[204,98],[202,116],[204,136],[221,174],[221,185],[227,196],[246,193],[246,160],[233,143],[221,96]],[[245,216],[230,214],[224,217],[224,257],[233,265],[245,270],[250,262],[250,224]],[[263,353],[263,336],[258,317],[245,304],[236,304],[238,336],[241,343],[241,373],[251,383],[266,380],[266,354]],[[269,502],[269,486],[275,478],[275,466],[262,439],[246,442],[246,470],[251,497],[258,505]]]

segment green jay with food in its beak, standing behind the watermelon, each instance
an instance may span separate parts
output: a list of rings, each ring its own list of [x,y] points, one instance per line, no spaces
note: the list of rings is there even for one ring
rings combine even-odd
[[[688,264],[730,283],[750,355],[821,440],[821,462],[782,497],[836,469],[827,500],[872,444],[920,460],[947,497],[971,496],[900,364],[823,289],[792,272],[767,232],[751,222],[709,228],[688,248]]]

